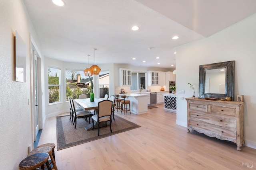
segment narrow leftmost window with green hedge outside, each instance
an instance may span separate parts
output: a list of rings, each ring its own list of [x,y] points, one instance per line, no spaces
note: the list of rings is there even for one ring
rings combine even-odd
[[[60,102],[60,69],[48,67],[49,104]]]

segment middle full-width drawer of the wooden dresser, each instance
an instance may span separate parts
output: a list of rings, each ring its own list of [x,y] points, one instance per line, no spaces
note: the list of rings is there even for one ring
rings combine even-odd
[[[191,120],[209,123],[220,127],[232,127],[236,128],[236,119],[226,119],[223,117],[216,117],[209,114],[201,114],[196,112],[190,112]]]

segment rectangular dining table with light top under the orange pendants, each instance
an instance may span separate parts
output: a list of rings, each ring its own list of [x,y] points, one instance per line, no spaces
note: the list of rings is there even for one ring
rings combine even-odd
[[[83,108],[84,110],[94,110],[94,115],[97,114],[98,112],[98,102],[101,102],[102,99],[98,99],[98,98],[94,98],[94,102],[91,102],[90,98],[86,98],[86,99],[74,99],[74,102],[81,108]],[[116,104],[112,104],[112,106],[116,106]],[[94,126],[94,128],[96,129],[97,126]],[[86,125],[84,127],[84,129],[86,131],[92,130],[92,123],[90,123],[89,125]]]

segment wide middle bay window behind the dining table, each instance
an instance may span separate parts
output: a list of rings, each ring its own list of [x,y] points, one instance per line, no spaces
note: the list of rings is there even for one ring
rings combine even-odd
[[[83,70],[66,70],[66,101],[68,96],[78,99],[80,94],[90,98],[90,79],[84,75]]]

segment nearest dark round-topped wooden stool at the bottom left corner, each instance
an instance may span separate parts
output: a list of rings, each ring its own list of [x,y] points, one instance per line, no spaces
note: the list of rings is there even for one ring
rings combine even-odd
[[[44,164],[46,164],[48,170],[52,170],[48,159],[49,154],[45,152],[32,154],[20,162],[19,170],[35,170]]]

